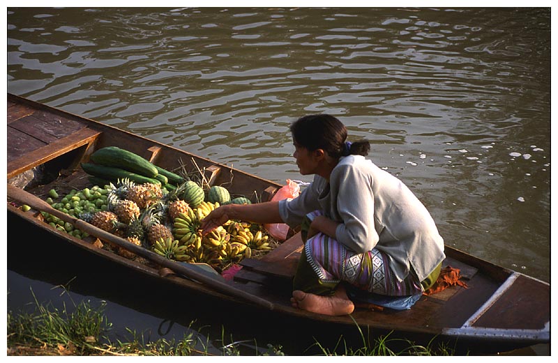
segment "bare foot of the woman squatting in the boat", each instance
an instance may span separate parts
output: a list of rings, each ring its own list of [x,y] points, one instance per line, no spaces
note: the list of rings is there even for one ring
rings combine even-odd
[[[332,296],[295,290],[292,292],[291,303],[293,307],[325,315],[347,315],[354,310],[354,304],[349,300],[345,288],[342,286],[338,286]]]

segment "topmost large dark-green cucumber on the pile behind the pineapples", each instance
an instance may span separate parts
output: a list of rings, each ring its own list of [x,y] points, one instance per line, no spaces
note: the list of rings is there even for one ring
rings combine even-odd
[[[148,160],[116,146],[107,146],[96,150],[91,155],[91,161],[105,167],[115,167],[131,171],[148,178],[154,178],[159,173],[155,165]]]

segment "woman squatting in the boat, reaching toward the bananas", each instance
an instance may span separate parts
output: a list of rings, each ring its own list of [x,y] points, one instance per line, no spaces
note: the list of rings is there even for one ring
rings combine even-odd
[[[346,286],[389,296],[428,289],[445,255],[423,204],[365,159],[368,141],[345,142],[347,129],[337,118],[304,116],[290,130],[296,164],[302,175],[315,175],[312,184],[295,199],[221,206],[204,219],[204,233],[228,219],[301,225],[306,242],[291,302],[319,314],[352,313]]]

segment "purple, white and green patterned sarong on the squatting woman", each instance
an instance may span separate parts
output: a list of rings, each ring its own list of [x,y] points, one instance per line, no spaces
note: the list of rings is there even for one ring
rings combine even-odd
[[[306,238],[312,219],[320,214],[316,211],[307,215],[301,226],[303,238]],[[304,245],[303,256],[294,278],[294,288],[317,295],[329,295],[334,293],[341,281],[379,295],[407,296],[423,292],[421,283],[413,272],[403,281],[398,281],[383,252],[372,249],[356,254],[337,240],[324,233],[317,233]]]

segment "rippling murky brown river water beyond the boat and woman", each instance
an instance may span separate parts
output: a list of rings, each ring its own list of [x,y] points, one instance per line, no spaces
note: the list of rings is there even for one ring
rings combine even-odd
[[[550,281],[550,8],[8,8],[8,92],[285,183],[329,113],[447,245]],[[8,279],[8,288],[10,279]]]

